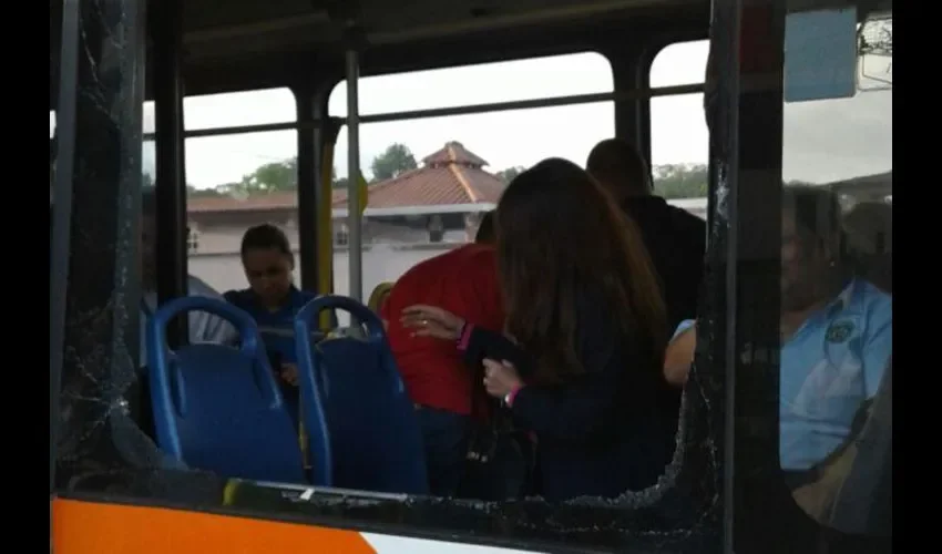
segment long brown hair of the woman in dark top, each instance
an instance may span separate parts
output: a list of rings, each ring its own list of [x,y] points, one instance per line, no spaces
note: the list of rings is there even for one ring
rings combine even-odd
[[[575,350],[584,302],[611,315],[616,340],[663,356],[667,316],[641,233],[586,172],[560,158],[523,172],[501,197],[495,229],[506,330],[541,370],[552,368],[544,378],[585,371]]]

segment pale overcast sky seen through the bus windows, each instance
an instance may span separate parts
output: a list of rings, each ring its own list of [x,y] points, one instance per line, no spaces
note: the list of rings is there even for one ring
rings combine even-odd
[[[668,47],[652,68],[653,86],[703,81],[705,41]],[[879,61],[878,61],[879,62]],[[885,70],[871,63],[869,73]],[[385,113],[509,100],[612,91],[612,70],[600,54],[584,53],[467,68],[422,71],[360,80],[360,113]],[[346,85],[330,96],[334,115],[346,114]],[[187,129],[288,122],[295,119],[287,90],[188,98]],[[406,144],[417,160],[455,140],[490,163],[491,171],[532,165],[561,156],[580,165],[592,146],[614,134],[612,102],[464,116],[375,123],[360,127],[360,164],[389,144]],[[145,132],[153,131],[153,105],[145,105]],[[50,129],[53,117],[50,115]],[[785,178],[827,182],[892,168],[892,91],[853,99],[786,104]],[[144,148],[153,168],[153,146]],[[238,181],[257,166],[296,154],[296,133],[188,138],[187,182],[212,187]],[[707,162],[707,130],[699,94],[652,101],[652,162]],[[347,174],[346,131],[335,153],[339,176]]]

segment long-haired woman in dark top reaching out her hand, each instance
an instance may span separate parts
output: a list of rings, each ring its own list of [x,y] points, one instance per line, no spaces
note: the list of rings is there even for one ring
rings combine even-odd
[[[508,335],[447,307],[402,310],[418,337],[483,363],[488,393],[535,434],[540,492],[551,501],[645,489],[670,459],[655,394],[666,314],[632,226],[580,167],[543,161],[496,208]]]

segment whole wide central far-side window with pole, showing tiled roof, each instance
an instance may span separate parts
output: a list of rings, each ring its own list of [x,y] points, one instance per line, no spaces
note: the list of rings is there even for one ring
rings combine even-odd
[[[360,111],[531,100],[611,92],[613,86],[608,61],[580,53],[365,78]],[[345,83],[332,91],[329,111],[346,113]],[[361,124],[360,167],[369,202],[360,294],[366,298],[419,261],[473,240],[481,214],[495,206],[522,170],[550,156],[584,165],[595,143],[613,135],[612,102]],[[349,178],[346,127],[334,165],[335,183],[342,188]],[[347,295],[349,258],[341,219],[347,203],[346,194],[336,194],[334,287]]]

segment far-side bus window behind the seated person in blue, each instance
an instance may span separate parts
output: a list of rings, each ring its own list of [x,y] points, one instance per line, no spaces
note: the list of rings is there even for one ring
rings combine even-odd
[[[288,89],[184,101],[187,131],[284,123],[295,120],[295,110]],[[190,275],[219,293],[247,288],[239,258],[246,229],[275,224],[298,248],[297,133],[201,136],[185,144]],[[295,283],[300,283],[297,265]]]

